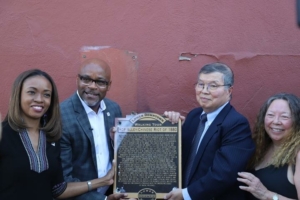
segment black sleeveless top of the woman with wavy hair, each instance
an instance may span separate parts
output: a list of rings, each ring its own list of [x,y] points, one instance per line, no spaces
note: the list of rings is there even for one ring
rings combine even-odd
[[[295,185],[291,184],[287,178],[288,164],[275,168],[270,165],[266,168],[253,171],[252,173],[260,179],[262,184],[270,191],[291,199],[298,199]],[[249,193],[250,194],[250,193]],[[250,194],[249,200],[256,198]]]

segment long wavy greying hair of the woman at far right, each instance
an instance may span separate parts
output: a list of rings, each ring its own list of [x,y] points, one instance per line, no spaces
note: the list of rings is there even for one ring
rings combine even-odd
[[[281,147],[274,153],[271,164],[275,167],[279,167],[285,164],[296,163],[296,155],[300,147],[300,99],[293,94],[279,93],[271,96],[263,104],[258,113],[253,129],[253,139],[256,144],[256,150],[249,162],[249,168],[251,169],[263,160],[267,150],[272,144],[272,140],[265,130],[264,119],[271,103],[278,99],[282,99],[288,103],[292,115],[292,127]]]

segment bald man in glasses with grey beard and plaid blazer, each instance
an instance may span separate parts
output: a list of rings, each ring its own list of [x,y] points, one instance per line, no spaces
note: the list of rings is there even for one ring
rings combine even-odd
[[[91,190],[90,180],[103,177],[111,169],[113,148],[109,131],[115,118],[122,117],[119,105],[107,98],[111,71],[98,59],[86,60],[79,68],[77,91],[61,103],[63,135],[61,162],[67,182],[87,181],[88,193],[76,200],[117,199],[122,194],[105,196],[109,186]]]

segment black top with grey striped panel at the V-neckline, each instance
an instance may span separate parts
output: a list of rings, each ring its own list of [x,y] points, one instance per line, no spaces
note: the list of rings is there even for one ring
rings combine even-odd
[[[66,189],[59,142],[49,143],[40,133],[35,152],[26,130],[20,133],[2,123],[0,141],[0,199],[52,200]]]

